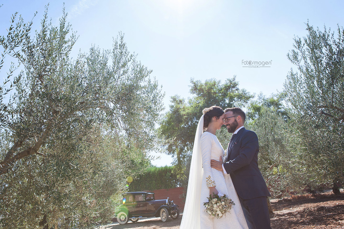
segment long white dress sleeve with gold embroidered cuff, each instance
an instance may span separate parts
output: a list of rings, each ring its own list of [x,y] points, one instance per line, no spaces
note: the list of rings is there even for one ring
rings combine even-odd
[[[216,187],[215,179],[213,178],[213,172],[210,167],[211,150],[212,150],[213,138],[211,133],[204,132],[201,136],[201,152],[202,152],[202,164],[204,177],[207,182],[207,187]]]

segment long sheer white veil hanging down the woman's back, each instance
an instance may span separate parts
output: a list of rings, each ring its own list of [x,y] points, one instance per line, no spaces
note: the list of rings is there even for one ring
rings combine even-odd
[[[187,184],[185,207],[180,229],[201,228],[201,188],[202,188],[202,155],[201,135],[203,133],[203,116],[198,121],[195,141],[192,150],[189,183]]]

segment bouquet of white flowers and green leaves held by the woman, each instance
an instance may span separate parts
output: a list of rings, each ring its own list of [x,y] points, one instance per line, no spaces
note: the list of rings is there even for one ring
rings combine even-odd
[[[219,193],[219,195],[221,195],[221,193]],[[217,219],[222,218],[226,212],[235,205],[233,200],[226,195],[222,195],[221,197],[219,197],[219,195],[209,195],[209,197],[207,197],[209,201],[203,203],[205,206],[204,211],[208,212],[209,216],[216,217]]]

